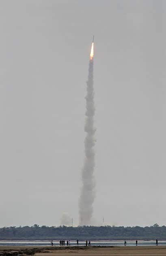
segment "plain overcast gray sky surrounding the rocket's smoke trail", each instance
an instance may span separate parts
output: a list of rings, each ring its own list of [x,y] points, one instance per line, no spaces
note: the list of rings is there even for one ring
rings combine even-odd
[[[78,223],[95,35],[94,223],[166,224],[166,1],[0,0],[0,226]]]

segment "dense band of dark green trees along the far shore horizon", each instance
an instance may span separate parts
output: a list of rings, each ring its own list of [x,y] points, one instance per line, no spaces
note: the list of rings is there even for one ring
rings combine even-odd
[[[0,240],[5,239],[166,239],[166,226],[115,227],[115,226],[78,226],[78,227],[4,227],[0,228]]]

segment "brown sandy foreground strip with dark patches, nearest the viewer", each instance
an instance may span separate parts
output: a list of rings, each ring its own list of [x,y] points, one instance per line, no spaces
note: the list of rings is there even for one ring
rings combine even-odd
[[[35,256],[164,256],[166,246],[138,247],[26,247],[0,246],[0,255],[35,255]]]

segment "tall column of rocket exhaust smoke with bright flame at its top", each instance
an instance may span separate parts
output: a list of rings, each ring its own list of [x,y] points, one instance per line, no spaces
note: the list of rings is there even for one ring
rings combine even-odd
[[[94,128],[94,88],[93,88],[93,43],[91,48],[91,55],[88,69],[88,81],[86,93],[86,123],[85,132],[86,138],[85,145],[85,159],[82,168],[82,189],[79,201],[79,222],[80,225],[90,225],[91,217],[93,214],[93,202],[95,199],[95,181],[94,181],[94,168],[95,168],[95,128]]]

